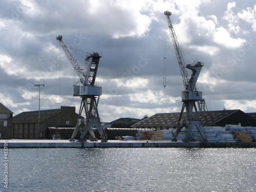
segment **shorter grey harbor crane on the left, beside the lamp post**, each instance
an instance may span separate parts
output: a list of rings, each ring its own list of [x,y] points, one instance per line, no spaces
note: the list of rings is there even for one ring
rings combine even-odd
[[[80,66],[78,60],[75,58],[73,53],[68,48],[67,44],[63,41],[62,35],[56,37],[56,40],[60,42],[63,50],[65,51],[69,61],[71,62],[75,72],[79,77],[78,84],[81,82],[82,86],[73,86],[73,96],[81,98],[81,104],[77,119],[77,124],[72,137],[69,141],[76,141],[75,136],[80,131],[81,137],[78,139],[79,142],[85,142],[84,136],[87,132],[90,133],[91,141],[98,141],[95,137],[94,129],[96,128],[101,136],[101,142],[108,142],[108,134],[101,127],[100,117],[98,112],[99,97],[102,92],[102,87],[99,87],[95,83],[97,75],[99,60],[102,56],[101,53],[91,52],[87,53],[86,56],[86,68],[85,70]],[[82,111],[85,111],[86,118],[81,118]]]

